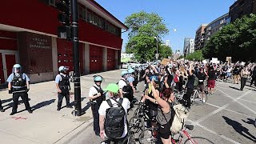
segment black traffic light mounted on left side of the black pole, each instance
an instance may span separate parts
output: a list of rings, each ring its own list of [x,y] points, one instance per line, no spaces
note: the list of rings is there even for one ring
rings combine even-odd
[[[70,39],[70,0],[59,0],[56,7],[60,11],[58,21],[62,23],[58,26],[58,38]]]

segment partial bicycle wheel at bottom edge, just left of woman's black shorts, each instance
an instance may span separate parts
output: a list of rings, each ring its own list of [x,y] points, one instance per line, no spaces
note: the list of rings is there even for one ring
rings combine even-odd
[[[140,144],[147,144],[147,143],[155,143],[157,138],[153,137],[153,128],[148,128],[143,130],[141,134],[139,134],[139,143]]]

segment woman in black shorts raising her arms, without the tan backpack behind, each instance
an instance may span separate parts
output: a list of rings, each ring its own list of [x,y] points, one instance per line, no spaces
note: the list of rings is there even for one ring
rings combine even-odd
[[[153,82],[152,92],[155,99],[155,103],[158,104],[158,115],[156,120],[158,122],[158,135],[160,136],[163,144],[170,143],[170,126],[172,123],[172,106],[174,102],[174,91],[171,88],[167,88],[162,92],[162,98],[160,98],[158,91],[154,88]],[[146,99],[151,99],[149,96],[144,96]]]

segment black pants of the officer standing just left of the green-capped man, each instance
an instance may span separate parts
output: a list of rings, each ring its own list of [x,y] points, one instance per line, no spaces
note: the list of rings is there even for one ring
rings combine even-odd
[[[98,114],[98,109],[99,106],[101,106],[100,102],[90,102],[91,106],[91,111],[94,116],[94,132],[95,134],[99,134],[99,114]]]

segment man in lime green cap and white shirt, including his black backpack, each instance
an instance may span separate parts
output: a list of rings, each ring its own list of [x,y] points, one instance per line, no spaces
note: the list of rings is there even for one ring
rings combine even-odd
[[[130,108],[130,101],[121,98],[119,87],[115,83],[110,83],[104,91],[109,94],[110,99],[103,101],[99,107],[100,136],[105,139],[106,144],[127,143],[128,133],[127,110]]]

